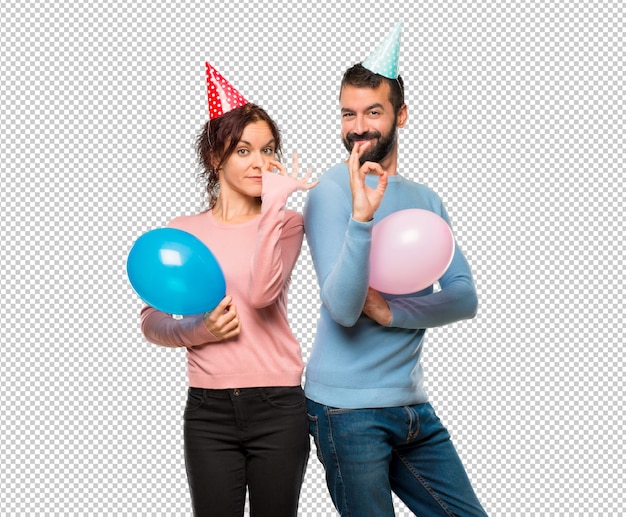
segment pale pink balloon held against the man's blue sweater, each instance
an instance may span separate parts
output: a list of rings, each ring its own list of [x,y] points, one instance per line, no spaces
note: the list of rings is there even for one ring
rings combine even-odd
[[[453,255],[452,230],[440,216],[419,208],[399,210],[374,226],[370,286],[388,294],[421,291],[443,276]]]

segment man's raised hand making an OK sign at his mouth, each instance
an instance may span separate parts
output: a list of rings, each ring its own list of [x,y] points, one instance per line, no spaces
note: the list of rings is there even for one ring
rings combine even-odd
[[[374,212],[378,210],[383,195],[387,189],[387,173],[379,163],[365,162],[360,164],[359,158],[371,145],[370,142],[355,142],[350,158],[348,158],[348,170],[350,171],[350,190],[352,191],[352,218],[356,221],[367,222],[374,218]],[[368,174],[378,176],[376,188],[368,187],[365,177]]]

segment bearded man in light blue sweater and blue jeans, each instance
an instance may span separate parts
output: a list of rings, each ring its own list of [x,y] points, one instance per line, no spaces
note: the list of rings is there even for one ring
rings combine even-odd
[[[399,40],[399,26],[391,37]],[[438,292],[387,295],[368,286],[376,222],[410,208],[448,221],[432,190],[398,173],[408,110],[393,62],[368,59],[345,72],[341,134],[350,156],[324,174],[305,207],[322,299],[305,384],[310,431],[343,517],[393,516],[392,491],[419,516],[484,517],[428,402],[420,362],[426,328],[476,314],[465,257],[457,246]]]

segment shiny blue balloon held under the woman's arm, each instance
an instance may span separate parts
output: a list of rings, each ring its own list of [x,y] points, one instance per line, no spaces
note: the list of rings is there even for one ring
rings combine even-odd
[[[226,294],[222,268],[197,237],[158,228],[139,237],[126,261],[133,289],[151,307],[168,314],[213,310]]]

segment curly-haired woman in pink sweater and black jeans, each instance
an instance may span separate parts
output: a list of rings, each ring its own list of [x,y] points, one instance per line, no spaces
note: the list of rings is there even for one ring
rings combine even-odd
[[[287,174],[276,124],[247,101],[205,124],[197,152],[209,210],[169,226],[209,247],[227,296],[207,314],[178,320],[145,307],[142,331],[158,345],[187,348],[185,462],[195,515],[243,515],[247,488],[252,515],[295,516],[309,437],[287,292],[303,221],[285,203],[316,183],[310,172],[298,179],[295,154]]]

